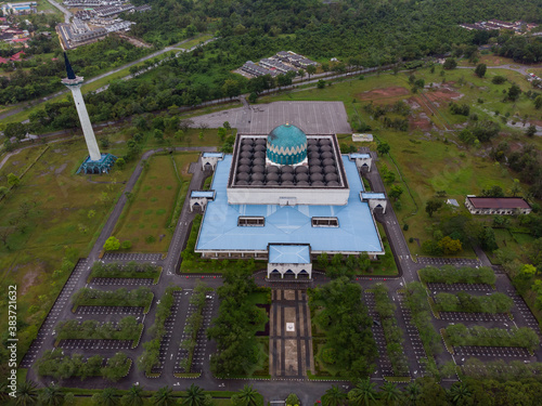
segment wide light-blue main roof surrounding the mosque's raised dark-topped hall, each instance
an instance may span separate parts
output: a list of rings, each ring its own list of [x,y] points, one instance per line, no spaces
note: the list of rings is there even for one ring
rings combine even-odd
[[[219,161],[211,188],[215,200],[205,210],[196,250],[267,251],[268,244],[310,244],[312,251],[383,252],[356,162],[343,156],[350,185],[345,206],[229,205],[228,176],[232,156]],[[266,218],[264,226],[237,226],[240,215]],[[312,217],[336,217],[339,227],[312,227]]]

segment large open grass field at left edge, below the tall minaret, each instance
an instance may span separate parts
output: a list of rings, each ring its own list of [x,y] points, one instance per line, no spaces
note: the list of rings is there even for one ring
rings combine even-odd
[[[0,171],[0,185],[8,185],[5,174],[30,167],[43,149],[38,144],[11,157]],[[111,152],[122,155],[124,147],[114,146]],[[8,285],[17,285],[21,357],[72,271],[62,258],[67,256],[74,263],[88,256],[124,187],[117,182],[128,180],[133,170],[129,163],[112,174],[76,175],[87,155],[81,139],[50,144],[20,186],[0,201],[0,233],[9,234],[9,248],[0,243],[0,287],[7,290]],[[89,217],[91,210],[94,215]],[[0,312],[7,312],[5,306],[2,302]],[[2,318],[0,328],[7,322]]]

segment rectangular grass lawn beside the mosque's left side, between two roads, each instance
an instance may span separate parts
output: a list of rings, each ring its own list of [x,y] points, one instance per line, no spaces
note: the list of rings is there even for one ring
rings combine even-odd
[[[189,167],[197,157],[197,153],[181,153],[150,159],[149,169],[133,191],[133,200],[126,206],[114,231],[121,241],[132,243],[132,251],[167,252],[175,231],[169,225],[180,187],[190,183]]]

